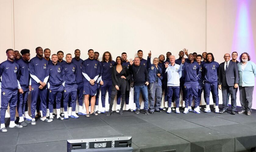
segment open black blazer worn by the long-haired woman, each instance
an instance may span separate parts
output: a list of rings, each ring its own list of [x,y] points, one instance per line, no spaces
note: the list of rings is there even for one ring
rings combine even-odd
[[[116,78],[116,65],[114,65],[112,67],[112,84],[113,84],[113,87],[112,87],[112,90],[115,90],[116,89],[116,85],[117,85],[117,78]],[[126,90],[130,90],[130,85],[129,85],[129,79],[131,78],[131,74],[130,74],[130,71],[128,70],[128,68],[126,66],[123,66],[122,65],[122,71],[124,71],[124,76],[125,76],[125,81],[126,81]]]

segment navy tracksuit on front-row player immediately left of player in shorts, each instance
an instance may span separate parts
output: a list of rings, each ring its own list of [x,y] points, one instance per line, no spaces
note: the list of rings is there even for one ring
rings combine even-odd
[[[76,111],[77,85],[76,85],[76,65],[65,63],[62,65],[65,73],[65,85],[63,93],[64,111],[68,109],[69,98],[71,98],[72,111]]]

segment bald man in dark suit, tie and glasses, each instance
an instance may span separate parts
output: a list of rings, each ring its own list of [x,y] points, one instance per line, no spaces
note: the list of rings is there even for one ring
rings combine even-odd
[[[236,89],[238,88],[239,74],[238,66],[235,62],[230,61],[230,54],[224,55],[225,62],[219,65],[218,83],[219,89],[222,90],[222,111],[228,112],[227,94],[231,95],[231,114],[236,114]]]

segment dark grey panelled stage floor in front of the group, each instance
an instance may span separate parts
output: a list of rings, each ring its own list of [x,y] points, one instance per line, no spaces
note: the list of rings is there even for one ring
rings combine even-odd
[[[218,114],[213,110],[201,111],[201,114],[155,112],[145,115],[125,111],[122,116],[116,112],[110,117],[105,115],[54,119],[52,123],[37,120],[37,125],[28,124],[21,129],[7,127],[7,133],[0,133],[0,151],[63,152],[67,150],[67,139],[107,136],[132,136],[136,152],[233,152],[253,151],[256,147],[256,110],[252,116]]]

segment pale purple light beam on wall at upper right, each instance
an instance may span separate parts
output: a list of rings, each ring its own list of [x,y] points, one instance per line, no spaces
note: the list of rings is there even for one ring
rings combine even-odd
[[[232,52],[238,52],[238,57],[243,52],[247,52],[250,56],[254,57],[254,41],[249,14],[251,0],[238,0],[237,3],[238,12],[236,15]],[[255,58],[252,61],[255,62]]]

